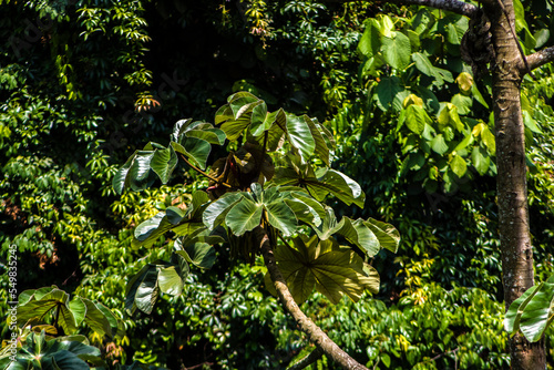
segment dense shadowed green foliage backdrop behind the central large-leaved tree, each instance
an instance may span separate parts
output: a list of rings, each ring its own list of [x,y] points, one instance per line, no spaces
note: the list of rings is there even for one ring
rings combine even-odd
[[[331,131],[335,168],[366,193],[363,208],[337,202],[337,215],[384,220],[402,237],[372,260],[377,295],[332,306],[315,294],[306,312],[370,367],[509,367],[491,81],[462,60],[466,19],[373,2],[0,3],[0,261],[16,245],[19,292],[57,285],[111,308],[124,335],[79,328],[109,362],[278,369],[310,350],[259,259],[230,261],[228,248],[181,297],[162,295],[151,315],[124,310],[126,281],[173,244],[155,240],[144,257],[135,227],[208,184],[179,166],[167,185],[119,196],[113,176],[147,142],[165,145],[178,120],[213,122],[228,95],[248,91]],[[552,7],[519,8],[525,50],[552,44]],[[538,280],[554,273],[552,72],[523,84]]]

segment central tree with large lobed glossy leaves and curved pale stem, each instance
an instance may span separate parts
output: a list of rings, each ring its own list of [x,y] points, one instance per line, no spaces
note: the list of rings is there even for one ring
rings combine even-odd
[[[327,197],[363,206],[360,186],[330,168],[331,134],[307,115],[279,109],[247,92],[228,99],[215,124],[178,121],[167,146],[148,143],[114,176],[113,185],[144,189],[156,178],[167,183],[178,161],[208,181],[189,204],[170,206],[138,225],[133,246],[151,247],[163,235],[173,245],[170,260],[144,266],[130,281],[126,307],[151,312],[160,294],[179,295],[191,267],[211,268],[217,248],[254,263],[261,255],[266,284],[317,346],[346,368],[365,368],[322,332],[298,305],[314,288],[337,304],[377,292],[379,275],[371,257],[396,251],[396,228],[379,220],[337,219]],[[207,165],[212,145],[228,154]]]

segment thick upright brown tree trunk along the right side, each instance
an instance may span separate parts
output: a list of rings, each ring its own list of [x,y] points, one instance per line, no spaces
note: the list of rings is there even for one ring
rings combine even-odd
[[[512,0],[485,4],[495,60],[492,63],[496,132],[496,191],[504,301],[507,307],[534,285],[529,230],[524,124],[521,82],[525,64],[513,34]],[[510,340],[512,369],[546,369],[544,343],[516,335]]]

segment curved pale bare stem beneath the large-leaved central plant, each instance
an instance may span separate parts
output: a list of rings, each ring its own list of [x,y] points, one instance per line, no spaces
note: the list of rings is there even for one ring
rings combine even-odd
[[[322,330],[319,328],[311,319],[309,319],[306,314],[300,310],[300,307],[295,302],[290,290],[288,290],[285,278],[277,267],[275,260],[274,251],[271,248],[271,241],[269,240],[269,235],[267,230],[263,227],[257,227],[255,229],[256,240],[259,243],[261,255],[264,256],[264,261],[269,271],[269,276],[274,282],[275,289],[281,304],[285,308],[293,315],[297,325],[300,329],[308,335],[308,338],[312,343],[320,347],[321,350],[336,363],[340,364],[345,369],[355,370],[368,370],[365,366],[358,363],[353,358],[351,358],[347,352],[340,349]]]

